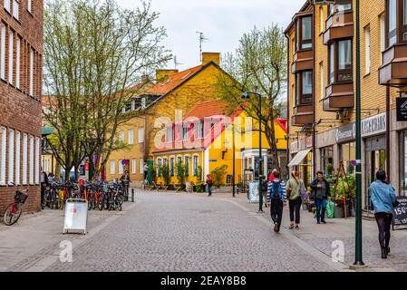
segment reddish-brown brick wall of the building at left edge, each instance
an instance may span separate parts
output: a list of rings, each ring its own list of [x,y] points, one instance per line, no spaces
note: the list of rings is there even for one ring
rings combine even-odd
[[[5,80],[0,80],[0,127],[7,129],[6,138],[6,162],[5,162],[5,183],[8,184],[8,170],[10,160],[8,158],[8,130],[19,131],[21,138],[26,133],[34,138],[41,138],[41,97],[42,97],[42,77],[43,77],[43,43],[44,43],[44,2],[42,0],[32,1],[31,13],[27,9],[27,0],[19,1],[18,20],[13,15],[13,0],[11,1],[11,11],[6,12],[3,2],[0,6],[0,18],[6,27],[5,37]],[[13,76],[8,75],[9,63],[9,35],[13,31]],[[20,43],[20,88],[15,87],[16,83],[16,42],[17,37]],[[33,95],[30,96],[30,52],[34,52],[34,79]],[[1,57],[1,56],[0,56]],[[11,77],[14,83],[11,84]],[[28,137],[29,140],[29,137]],[[28,142],[29,143],[29,142]],[[1,146],[1,145],[0,145]],[[35,142],[34,142],[35,146]],[[29,148],[29,146],[28,146]],[[35,149],[34,149],[35,152]],[[40,149],[41,152],[41,149]],[[23,140],[20,145],[20,183],[23,179]],[[29,158],[28,158],[29,160]],[[35,160],[35,159],[34,159]],[[29,168],[29,167],[28,167]],[[35,170],[35,167],[34,167]],[[0,187],[0,213],[13,201],[15,189],[13,185]],[[40,187],[38,185],[21,186],[21,189],[29,189],[29,198],[24,206],[24,212],[33,212],[40,209]]]

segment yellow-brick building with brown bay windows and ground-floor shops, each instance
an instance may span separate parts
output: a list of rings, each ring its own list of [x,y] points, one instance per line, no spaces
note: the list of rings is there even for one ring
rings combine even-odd
[[[369,184],[386,169],[397,192],[407,192],[407,122],[396,121],[397,98],[407,92],[403,0],[360,1],[363,209]],[[306,1],[286,28],[291,169],[310,181],[315,170],[354,174],[354,1]],[[293,161],[294,160],[294,161]]]

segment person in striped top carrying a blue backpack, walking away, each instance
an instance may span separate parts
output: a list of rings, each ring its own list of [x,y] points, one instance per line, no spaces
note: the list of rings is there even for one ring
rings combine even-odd
[[[280,179],[280,172],[273,173],[274,180],[268,182],[267,206],[270,207],[271,219],[274,222],[274,231],[280,231],[283,208],[286,206],[286,183]]]

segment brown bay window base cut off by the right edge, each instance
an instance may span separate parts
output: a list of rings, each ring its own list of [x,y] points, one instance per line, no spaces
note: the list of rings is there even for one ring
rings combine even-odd
[[[397,88],[407,86],[407,43],[394,44],[383,52],[379,83]]]

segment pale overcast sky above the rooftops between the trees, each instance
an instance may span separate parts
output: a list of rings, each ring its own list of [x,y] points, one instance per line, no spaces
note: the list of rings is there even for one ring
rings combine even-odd
[[[117,0],[125,8],[140,5],[139,0]],[[208,41],[204,52],[233,52],[242,34],[255,25],[263,28],[277,23],[286,28],[305,0],[151,0],[160,12],[157,24],[167,28],[166,46],[177,55],[179,70],[198,65],[199,34]],[[168,63],[174,68],[174,63]]]

